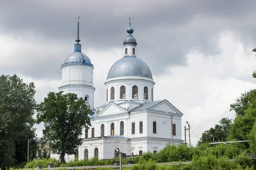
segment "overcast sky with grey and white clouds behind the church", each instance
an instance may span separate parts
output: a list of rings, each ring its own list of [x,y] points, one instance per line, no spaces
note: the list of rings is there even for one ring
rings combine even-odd
[[[182,126],[190,123],[196,144],[222,117],[234,118],[230,104],[256,86],[255,8],[255,0],[0,0],[0,74],[35,82],[37,102],[58,92],[79,15],[95,107],[102,105],[131,16],[137,57],[156,83],[154,100],[167,99],[184,114]],[[42,136],[43,125],[36,127]]]

